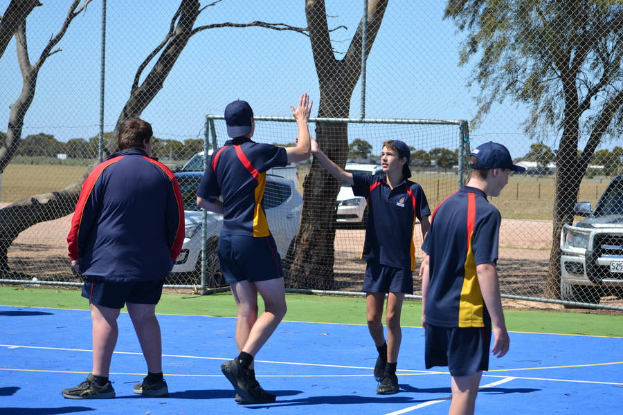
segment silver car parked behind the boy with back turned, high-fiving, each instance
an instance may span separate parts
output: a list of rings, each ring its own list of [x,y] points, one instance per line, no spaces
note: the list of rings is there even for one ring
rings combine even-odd
[[[197,282],[201,277],[201,234],[203,229],[203,212],[197,208],[197,187],[203,172],[178,172],[175,174],[181,187],[186,215],[186,235],[181,253],[173,266],[172,277],[176,274],[190,275]],[[267,174],[266,190],[262,206],[266,212],[269,228],[280,255],[287,254],[290,242],[298,231],[300,209],[303,196],[296,190],[296,185],[287,178]],[[217,246],[219,233],[223,225],[223,215],[206,212],[207,216],[207,248],[206,275],[208,284],[211,282],[222,286],[225,281],[220,271]]]

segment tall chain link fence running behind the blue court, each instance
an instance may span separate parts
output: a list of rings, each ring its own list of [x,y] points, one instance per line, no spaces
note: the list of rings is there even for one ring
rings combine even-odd
[[[289,106],[307,92],[314,100],[312,136],[329,157],[373,169],[383,141],[404,140],[412,147],[413,179],[431,208],[467,174],[462,151],[489,140],[506,145],[527,172],[513,175],[491,199],[503,216],[503,295],[620,309],[623,7],[562,0],[456,4],[0,0],[0,117],[7,121],[0,129],[2,282],[81,284],[66,257],[80,185],[116,151],[120,122],[140,116],[154,127],[154,156],[179,171],[186,186],[187,236],[203,237],[199,251],[183,253],[170,283],[182,290],[220,286],[210,250],[218,225],[201,226],[213,218],[192,205],[201,152],[210,154],[225,139],[222,121],[205,114],[247,100],[255,114],[269,116],[258,122],[255,140],[291,145],[296,128],[278,118],[289,118]],[[487,26],[492,16],[498,23]],[[488,37],[487,27],[496,27]],[[495,43],[505,27],[506,43]],[[562,50],[575,56],[571,74],[557,71],[567,56],[557,55]],[[566,101],[565,76],[577,86],[575,107]],[[329,128],[317,121],[327,119],[357,122]],[[470,131],[467,122],[387,122],[397,119],[468,120]],[[286,201],[298,203],[298,223],[289,221],[283,233],[273,228],[284,238],[282,257],[294,258],[285,264],[294,270],[291,286],[359,291],[361,204],[343,196],[349,189],[314,163],[271,174],[264,208],[278,212]],[[310,174],[314,181],[307,181]],[[324,203],[305,207],[311,203],[303,197],[305,183],[326,192]],[[316,212],[316,223],[307,223]],[[573,226],[588,214],[588,222]],[[329,241],[304,273],[296,269],[305,255],[288,252],[305,251],[291,243],[298,232]],[[419,246],[417,228],[415,235]]]

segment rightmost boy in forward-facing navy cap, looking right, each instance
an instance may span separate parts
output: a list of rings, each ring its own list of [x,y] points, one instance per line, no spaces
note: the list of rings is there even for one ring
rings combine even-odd
[[[489,369],[491,324],[498,358],[509,349],[496,261],[499,196],[513,164],[506,147],[487,142],[471,152],[471,175],[431,216],[424,239],[422,327],[426,369],[447,366],[452,376],[449,414],[473,414],[482,371]]]

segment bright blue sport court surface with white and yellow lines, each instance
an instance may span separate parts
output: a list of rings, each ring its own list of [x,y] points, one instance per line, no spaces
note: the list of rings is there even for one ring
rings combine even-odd
[[[363,316],[362,316],[363,317]],[[256,356],[268,405],[235,403],[220,365],[237,353],[235,319],[159,315],[169,396],[136,395],[145,362],[127,313],[111,366],[116,398],[73,400],[61,390],[91,371],[89,311],[0,306],[0,414],[447,414],[450,376],[424,369],[424,331],[404,327],[399,394],[376,394],[377,351],[365,325],[282,322]],[[477,414],[623,414],[623,339],[510,333],[491,358]]]

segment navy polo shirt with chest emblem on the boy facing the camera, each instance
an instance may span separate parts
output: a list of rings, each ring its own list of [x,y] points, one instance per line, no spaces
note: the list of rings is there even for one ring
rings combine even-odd
[[[361,258],[413,271],[415,222],[431,214],[422,186],[406,180],[391,189],[385,176],[353,174],[352,180],[353,194],[368,202]]]

